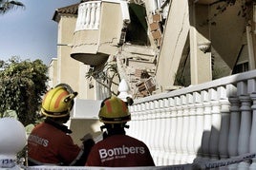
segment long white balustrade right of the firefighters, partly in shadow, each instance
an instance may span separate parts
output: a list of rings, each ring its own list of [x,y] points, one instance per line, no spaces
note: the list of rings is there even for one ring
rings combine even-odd
[[[255,78],[253,70],[137,100],[128,134],[146,142],[158,165],[256,153]]]

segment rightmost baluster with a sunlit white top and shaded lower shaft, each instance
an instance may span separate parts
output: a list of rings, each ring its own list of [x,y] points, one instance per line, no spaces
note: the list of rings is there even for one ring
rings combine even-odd
[[[228,152],[227,152],[227,138],[228,138],[228,132],[229,132],[229,102],[226,98],[226,89],[224,86],[218,87],[218,94],[220,98],[221,103],[221,131],[220,131],[220,142],[219,142],[219,152],[221,159],[227,159],[228,158]]]

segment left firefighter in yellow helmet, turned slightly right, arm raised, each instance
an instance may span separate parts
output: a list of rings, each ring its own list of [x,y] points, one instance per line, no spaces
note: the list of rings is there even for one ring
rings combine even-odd
[[[29,165],[84,165],[95,144],[90,136],[79,147],[70,136],[72,131],[64,125],[70,119],[77,92],[69,85],[56,85],[44,96],[41,113],[43,123],[32,129],[28,139]]]

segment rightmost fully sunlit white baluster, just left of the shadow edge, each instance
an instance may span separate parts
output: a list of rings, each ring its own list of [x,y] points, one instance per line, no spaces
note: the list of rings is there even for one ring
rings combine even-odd
[[[188,150],[188,157],[187,163],[192,163],[193,160],[196,158],[195,150],[194,150],[194,139],[195,135],[198,133],[195,131],[196,129],[196,107],[193,100],[192,94],[187,94],[187,103],[189,107],[188,113],[188,139],[187,139],[187,150]]]

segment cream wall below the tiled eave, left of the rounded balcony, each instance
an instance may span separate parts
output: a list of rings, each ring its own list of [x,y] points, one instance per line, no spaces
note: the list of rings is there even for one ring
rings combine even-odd
[[[57,47],[57,84],[71,85],[78,92],[79,99],[95,99],[94,89],[89,89],[85,74],[88,66],[73,59],[71,45],[74,38],[76,18],[62,16],[58,23]]]

